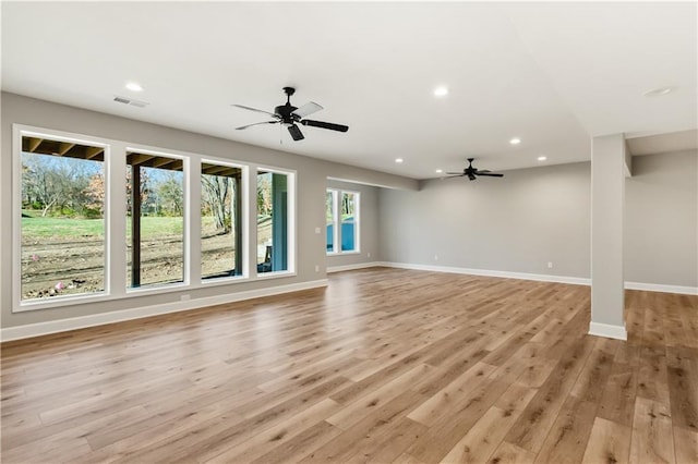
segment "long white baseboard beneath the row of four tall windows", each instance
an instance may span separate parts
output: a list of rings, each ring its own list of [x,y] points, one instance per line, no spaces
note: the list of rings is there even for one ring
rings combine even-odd
[[[270,286],[258,290],[249,290],[245,292],[228,293],[225,295],[208,296],[203,298],[190,300],[186,302],[173,302],[132,309],[122,309],[110,313],[72,317],[68,319],[51,320],[47,322],[8,327],[0,330],[0,341],[7,342],[11,340],[28,339],[32,337],[47,335],[49,333],[65,332],[68,330],[84,329],[87,327],[103,326],[105,323],[142,319],[144,317],[158,316],[169,313],[179,313],[190,309],[198,309],[206,306],[241,302],[244,300],[278,295],[281,293],[298,292],[301,290],[317,289],[322,286],[327,286],[327,279],[292,283],[288,285]]]

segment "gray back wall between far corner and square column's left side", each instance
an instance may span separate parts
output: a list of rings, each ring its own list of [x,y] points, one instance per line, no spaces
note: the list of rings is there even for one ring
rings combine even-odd
[[[382,190],[383,260],[589,278],[590,179],[585,162]]]

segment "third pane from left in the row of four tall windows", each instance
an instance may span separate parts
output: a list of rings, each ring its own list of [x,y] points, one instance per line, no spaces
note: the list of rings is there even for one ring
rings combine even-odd
[[[242,276],[242,170],[202,163],[202,279]]]

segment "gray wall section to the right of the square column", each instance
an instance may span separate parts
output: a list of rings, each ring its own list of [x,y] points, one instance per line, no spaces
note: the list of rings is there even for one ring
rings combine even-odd
[[[698,151],[634,157],[625,188],[625,280],[697,288]]]

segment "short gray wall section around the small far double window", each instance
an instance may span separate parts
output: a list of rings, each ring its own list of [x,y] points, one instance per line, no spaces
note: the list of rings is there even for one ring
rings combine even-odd
[[[372,185],[356,184],[327,180],[328,188],[339,188],[347,192],[359,192],[359,253],[342,253],[327,255],[327,268],[341,268],[358,266],[366,262],[380,261],[378,229],[378,187]],[[323,231],[325,231],[323,229]]]

